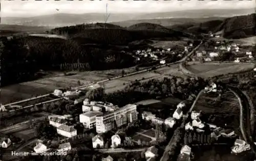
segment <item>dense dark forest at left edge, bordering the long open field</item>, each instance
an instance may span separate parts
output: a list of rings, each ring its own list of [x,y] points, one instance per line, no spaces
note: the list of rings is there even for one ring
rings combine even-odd
[[[60,38],[2,37],[1,51],[2,86],[35,79],[39,70],[108,70],[134,65],[134,58],[120,50]]]

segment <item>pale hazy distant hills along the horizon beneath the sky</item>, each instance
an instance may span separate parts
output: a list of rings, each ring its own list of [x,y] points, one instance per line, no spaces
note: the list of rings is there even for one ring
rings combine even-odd
[[[136,19],[156,19],[156,21],[149,21],[158,24],[157,19],[169,18],[207,18],[207,17],[231,17],[237,15],[246,15],[254,13],[255,9],[205,9],[205,10],[185,10],[172,11],[160,13],[112,13],[109,17],[109,22],[136,20]],[[24,26],[50,26],[63,27],[72,26],[82,23],[103,22],[105,13],[86,13],[86,14],[67,14],[58,13],[52,15],[42,15],[36,17],[1,17],[1,24],[7,25],[24,25]],[[139,21],[142,22],[142,21]],[[137,24],[127,24],[131,26]],[[163,26],[171,26],[175,24],[161,24]]]

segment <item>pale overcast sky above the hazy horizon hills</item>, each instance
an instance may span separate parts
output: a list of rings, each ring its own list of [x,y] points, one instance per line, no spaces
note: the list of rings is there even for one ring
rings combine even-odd
[[[241,9],[255,7],[254,0],[233,0],[233,1],[108,1],[108,0],[83,0],[83,1],[53,1],[53,0],[1,0],[2,17],[32,17],[54,13],[97,13],[105,12],[105,5],[108,3],[108,10],[111,13],[139,13],[139,12],[169,12],[177,10],[194,10],[194,9]],[[56,9],[59,9],[57,11]]]

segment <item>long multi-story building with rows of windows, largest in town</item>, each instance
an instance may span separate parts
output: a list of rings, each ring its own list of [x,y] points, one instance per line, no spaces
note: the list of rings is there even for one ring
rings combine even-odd
[[[127,104],[112,112],[102,113],[96,116],[96,131],[98,133],[106,132],[115,126],[120,127],[137,120],[137,106]]]

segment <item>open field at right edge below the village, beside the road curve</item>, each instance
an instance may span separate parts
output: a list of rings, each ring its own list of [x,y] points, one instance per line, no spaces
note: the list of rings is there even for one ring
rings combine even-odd
[[[195,64],[186,66],[187,70],[197,74],[200,77],[208,78],[218,75],[225,75],[229,73],[237,73],[251,70],[255,64]]]

